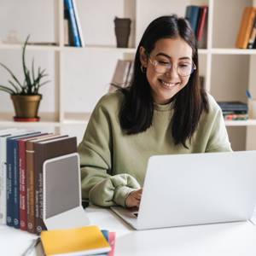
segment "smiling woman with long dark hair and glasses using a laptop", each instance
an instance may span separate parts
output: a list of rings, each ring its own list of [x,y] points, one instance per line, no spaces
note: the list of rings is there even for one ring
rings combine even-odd
[[[162,16],[149,24],[131,86],[102,97],[79,144],[83,198],[138,207],[151,155],[231,151],[221,109],[199,84],[198,68],[187,20]]]

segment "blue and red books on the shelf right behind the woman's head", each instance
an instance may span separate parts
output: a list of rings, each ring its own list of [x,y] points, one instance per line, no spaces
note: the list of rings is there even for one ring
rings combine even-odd
[[[207,15],[208,6],[189,5],[186,7],[185,18],[195,32],[199,48],[207,48]]]

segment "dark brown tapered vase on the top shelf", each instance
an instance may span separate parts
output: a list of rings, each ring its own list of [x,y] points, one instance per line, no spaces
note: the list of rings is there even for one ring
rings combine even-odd
[[[131,32],[131,19],[115,17],[113,22],[117,47],[127,48]]]

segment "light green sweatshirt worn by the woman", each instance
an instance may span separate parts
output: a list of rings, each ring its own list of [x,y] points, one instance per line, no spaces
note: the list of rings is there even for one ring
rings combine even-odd
[[[125,207],[131,191],[143,186],[151,155],[231,151],[221,109],[210,95],[210,111],[202,113],[189,149],[173,142],[172,103],[155,104],[153,125],[147,131],[126,135],[119,125],[123,99],[119,91],[102,97],[79,144],[82,196],[93,204]]]

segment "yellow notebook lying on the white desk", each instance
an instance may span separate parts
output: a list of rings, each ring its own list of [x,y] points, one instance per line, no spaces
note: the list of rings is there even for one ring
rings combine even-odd
[[[97,226],[42,231],[41,241],[46,255],[89,255],[111,249]]]

